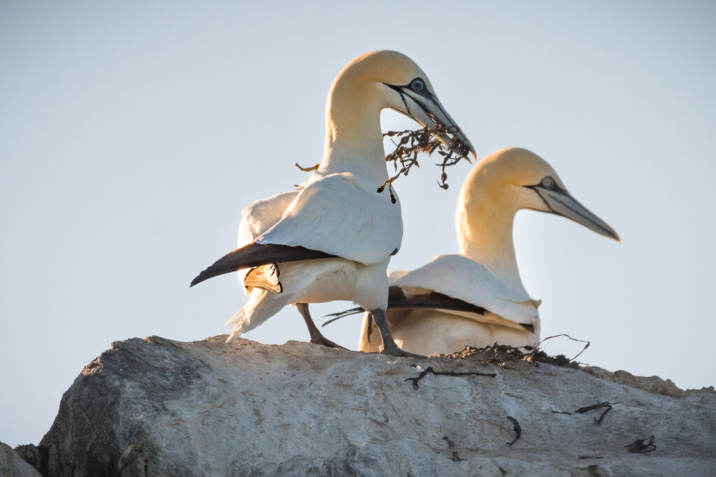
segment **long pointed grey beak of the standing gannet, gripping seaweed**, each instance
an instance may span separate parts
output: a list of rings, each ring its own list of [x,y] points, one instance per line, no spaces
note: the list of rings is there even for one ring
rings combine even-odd
[[[470,139],[465,136],[463,130],[458,127],[455,120],[442,107],[440,99],[437,99],[435,94],[429,91],[424,94],[417,94],[407,87],[390,87],[395,89],[402,97],[408,116],[423,126],[440,126],[447,129],[447,133],[434,133],[435,137],[461,156],[468,158],[468,154],[471,152],[475,160],[478,159],[477,152],[475,152],[475,147],[473,147]]]

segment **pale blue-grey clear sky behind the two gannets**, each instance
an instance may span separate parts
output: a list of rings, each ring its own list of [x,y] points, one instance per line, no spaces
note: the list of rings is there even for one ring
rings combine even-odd
[[[38,443],[112,341],[228,331],[236,276],[190,280],[236,246],[243,207],[306,179],[294,162],[321,159],[334,77],[376,49],[422,67],[478,157],[531,149],[621,235],[518,214],[543,337],[590,340],[579,359],[609,370],[716,384],[715,22],[707,1],[3,1],[0,441]],[[395,184],[389,270],[457,251],[470,165],[444,191],[421,164]],[[360,320],[326,336],[355,349]],[[245,337],[308,333],[291,307]]]

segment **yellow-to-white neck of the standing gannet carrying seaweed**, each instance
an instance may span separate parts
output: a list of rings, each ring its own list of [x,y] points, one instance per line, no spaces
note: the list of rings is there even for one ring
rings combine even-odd
[[[326,144],[322,174],[350,172],[377,190],[388,178],[377,94],[369,87],[337,81],[326,102]]]

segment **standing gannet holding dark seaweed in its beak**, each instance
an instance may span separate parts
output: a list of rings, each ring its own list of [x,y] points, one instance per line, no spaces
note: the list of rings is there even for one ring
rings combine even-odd
[[[351,300],[369,310],[382,352],[397,347],[385,322],[390,257],[400,250],[400,202],[378,188],[388,179],[380,112],[392,108],[437,133],[460,155],[475,149],[435,96],[430,80],[397,51],[374,51],[347,64],[326,102],[326,142],[318,169],[300,190],[258,200],[243,210],[239,248],[200,273],[191,286],[240,270],[248,303],[227,322],[227,341],[295,304],[311,343],[337,346],[319,332],[308,303]],[[293,161],[291,161],[293,162]]]

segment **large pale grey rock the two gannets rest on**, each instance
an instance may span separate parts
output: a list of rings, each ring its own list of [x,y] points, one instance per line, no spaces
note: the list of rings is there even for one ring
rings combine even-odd
[[[52,476],[698,476],[716,468],[712,390],[677,393],[658,378],[599,368],[481,367],[225,338],[113,343],[64,394],[34,465]],[[495,376],[427,374],[418,389],[405,381],[427,366]],[[575,413],[603,401],[616,404],[601,423],[606,408]],[[521,428],[511,446],[508,415]],[[625,447],[652,435],[653,452]]]

